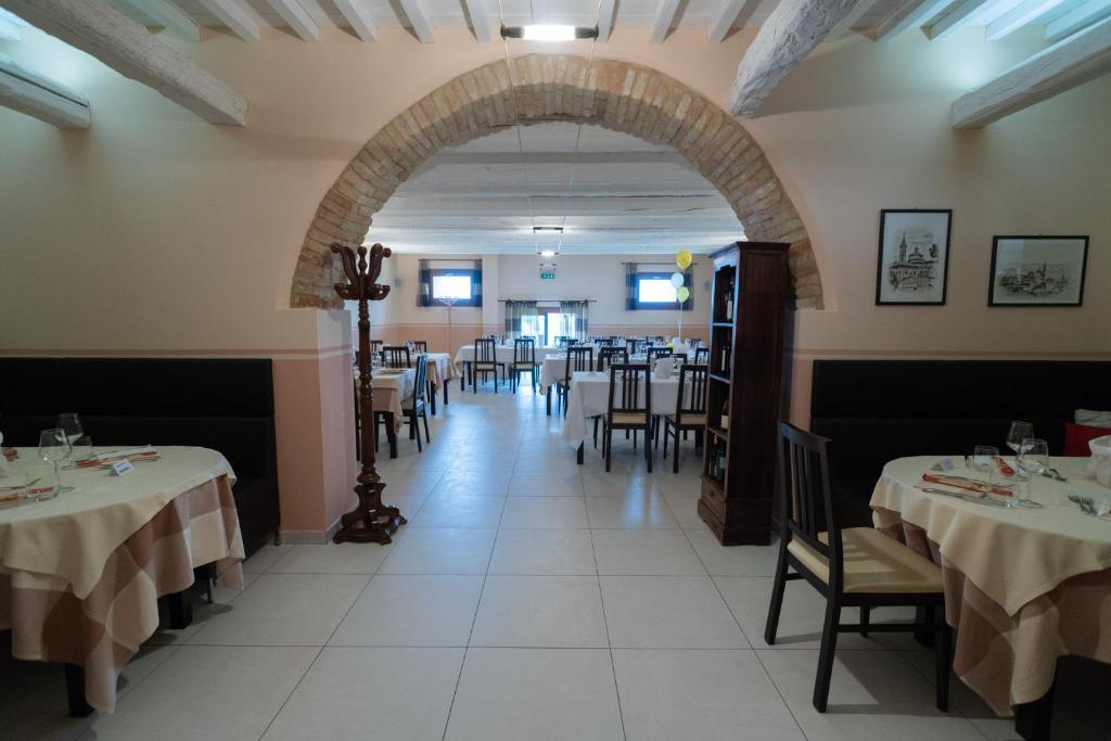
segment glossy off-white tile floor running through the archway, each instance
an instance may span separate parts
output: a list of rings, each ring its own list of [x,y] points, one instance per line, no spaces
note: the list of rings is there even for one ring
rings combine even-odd
[[[957,680],[939,713],[931,654],[890,637],[841,638],[815,713],[821,601],[791,583],[763,642],[774,550],[702,524],[692,441],[648,474],[619,435],[605,473],[560,427],[528,388],[453,389],[426,452],[381,461],[394,543],[264,548],[156,634],[112,715],[69,721],[60,669],[0,645],[0,738],[1014,738]]]

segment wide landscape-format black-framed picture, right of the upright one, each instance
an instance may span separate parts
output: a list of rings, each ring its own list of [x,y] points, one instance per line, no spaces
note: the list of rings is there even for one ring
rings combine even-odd
[[[1087,237],[995,237],[989,307],[1079,307]]]

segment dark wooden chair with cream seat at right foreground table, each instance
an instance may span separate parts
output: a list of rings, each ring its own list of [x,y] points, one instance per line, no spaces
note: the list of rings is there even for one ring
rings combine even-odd
[[[935,633],[938,709],[949,708],[950,643],[952,631],[944,619],[941,569],[901,542],[873,528],[838,527],[830,478],[830,441],[787,422],[779,423],[779,490],[781,499],[779,564],[772,587],[764,641],[775,642],[783,588],[805,579],[825,598],[825,622],[818,653],[813,704],[825,712],[838,633],[910,632],[923,628]],[[788,573],[788,569],[793,573]],[[931,608],[928,623],[869,624],[873,607]],[[860,623],[841,622],[841,609],[860,608]]]

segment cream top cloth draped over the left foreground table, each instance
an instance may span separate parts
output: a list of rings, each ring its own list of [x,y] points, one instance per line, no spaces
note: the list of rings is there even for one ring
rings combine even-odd
[[[139,462],[122,475],[93,469],[63,469],[73,487],[46,502],[0,509],[0,571],[48,574],[84,599],[100,580],[109,554],[182,492],[236,474],[223,455],[207,448],[159,448],[157,462]],[[7,479],[18,480],[37,451],[20,450]],[[242,550],[242,549],[240,549]]]

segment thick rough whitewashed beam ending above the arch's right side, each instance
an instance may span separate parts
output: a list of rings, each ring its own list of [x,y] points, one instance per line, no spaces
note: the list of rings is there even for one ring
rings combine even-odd
[[[777,6],[737,69],[729,110],[742,118],[759,114],[775,86],[852,12],[858,1],[783,0]]]

